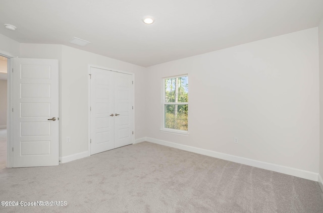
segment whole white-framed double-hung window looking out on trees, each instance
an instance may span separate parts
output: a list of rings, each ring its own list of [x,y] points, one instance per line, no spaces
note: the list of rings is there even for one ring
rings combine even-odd
[[[163,79],[163,128],[161,130],[188,133],[188,76]]]

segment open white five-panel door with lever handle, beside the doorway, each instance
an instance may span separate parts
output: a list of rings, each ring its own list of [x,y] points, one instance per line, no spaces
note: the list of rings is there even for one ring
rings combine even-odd
[[[59,165],[58,85],[58,60],[13,59],[13,167]]]

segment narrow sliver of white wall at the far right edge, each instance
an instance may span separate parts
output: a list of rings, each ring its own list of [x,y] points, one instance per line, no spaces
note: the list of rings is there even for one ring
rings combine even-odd
[[[320,154],[319,154],[319,175],[323,183],[323,18],[318,26],[318,48],[319,48],[319,107],[320,107]],[[323,190],[323,185],[321,185]]]

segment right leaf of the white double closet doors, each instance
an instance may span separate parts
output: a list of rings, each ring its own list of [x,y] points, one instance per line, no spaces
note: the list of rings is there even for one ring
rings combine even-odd
[[[133,76],[115,74],[115,148],[133,144]]]

